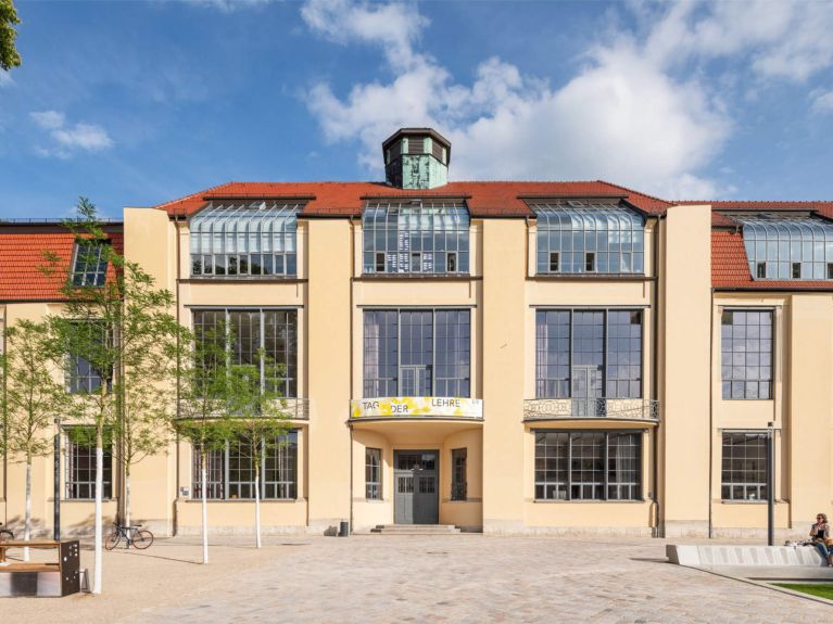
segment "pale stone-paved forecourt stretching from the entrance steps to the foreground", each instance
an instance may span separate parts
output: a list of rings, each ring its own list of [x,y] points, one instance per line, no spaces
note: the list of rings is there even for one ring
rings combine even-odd
[[[665,562],[657,539],[287,538],[148,622],[819,622],[833,607]]]

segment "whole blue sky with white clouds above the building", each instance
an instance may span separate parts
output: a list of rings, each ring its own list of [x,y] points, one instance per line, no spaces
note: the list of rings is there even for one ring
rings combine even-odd
[[[430,125],[451,178],[833,199],[833,2],[17,0],[0,217],[229,180],[380,179]]]

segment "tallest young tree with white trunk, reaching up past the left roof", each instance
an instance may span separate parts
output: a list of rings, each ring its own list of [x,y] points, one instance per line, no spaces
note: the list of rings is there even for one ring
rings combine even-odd
[[[163,406],[173,416],[173,403],[150,404],[137,399],[136,393],[152,393],[165,371],[171,370],[167,362],[176,353],[179,326],[168,311],[174,306],[172,293],[156,288],[153,278],[139,265],[127,262],[113,249],[96,207],[81,198],[77,212],[79,219],[66,224],[76,237],[73,266],[67,267],[51,255],[43,270],[63,279],[62,310],[47,319],[55,349],[68,354],[56,357],[56,361],[68,368],[71,379],[77,377],[80,365],[89,367],[98,378],[97,383],[73,390],[76,407],[84,413],[84,420],[91,423],[96,437],[92,591],[100,594],[104,436],[112,432],[115,455],[125,466],[138,459],[139,447],[142,450],[138,453],[144,454],[162,447],[138,444],[137,440],[147,440],[149,426],[162,426]],[[139,435],[138,431],[146,433]],[[160,435],[164,437],[164,428]],[[125,438],[131,441],[127,454],[121,444]]]

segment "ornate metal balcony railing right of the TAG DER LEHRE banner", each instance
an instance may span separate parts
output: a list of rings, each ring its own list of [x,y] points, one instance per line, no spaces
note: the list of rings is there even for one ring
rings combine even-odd
[[[647,398],[529,398],[525,420],[548,419],[645,420],[659,422],[659,402]]]

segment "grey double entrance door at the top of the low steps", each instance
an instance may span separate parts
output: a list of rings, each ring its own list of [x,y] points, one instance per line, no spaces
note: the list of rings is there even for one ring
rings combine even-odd
[[[437,524],[440,521],[438,461],[436,450],[394,450],[396,524]]]

